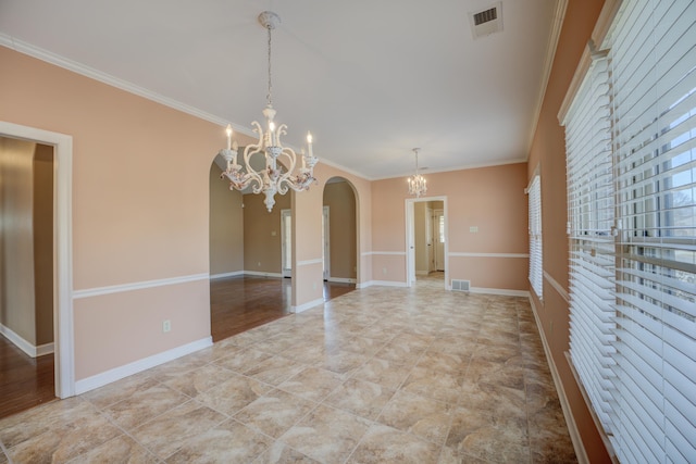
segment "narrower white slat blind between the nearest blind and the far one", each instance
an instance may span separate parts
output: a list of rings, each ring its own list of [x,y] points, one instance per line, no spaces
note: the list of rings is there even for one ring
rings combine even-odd
[[[607,60],[596,59],[566,117],[570,233],[570,353],[611,432],[614,336],[614,202]]]

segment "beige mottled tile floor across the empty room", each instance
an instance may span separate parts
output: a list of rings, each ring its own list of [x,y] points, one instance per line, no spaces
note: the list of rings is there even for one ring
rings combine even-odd
[[[4,463],[566,463],[524,298],[370,287],[0,421]]]

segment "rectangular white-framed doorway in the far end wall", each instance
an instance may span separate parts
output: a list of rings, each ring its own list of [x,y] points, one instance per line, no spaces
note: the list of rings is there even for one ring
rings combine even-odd
[[[449,289],[447,197],[406,200],[407,286],[427,280]]]

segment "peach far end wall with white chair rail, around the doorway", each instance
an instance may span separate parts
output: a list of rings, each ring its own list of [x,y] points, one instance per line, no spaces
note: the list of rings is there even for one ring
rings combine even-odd
[[[529,258],[526,164],[517,163],[426,175],[427,196],[447,197],[450,279],[472,287],[526,291]],[[403,178],[373,184],[373,275],[406,281]],[[477,233],[470,233],[477,227]]]

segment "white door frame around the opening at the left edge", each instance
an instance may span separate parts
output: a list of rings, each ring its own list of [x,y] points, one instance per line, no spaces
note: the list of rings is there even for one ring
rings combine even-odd
[[[55,396],[75,394],[73,330],[73,138],[0,121],[0,136],[53,147],[53,359]]]

